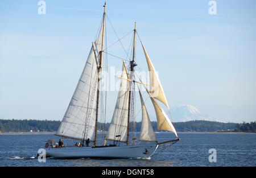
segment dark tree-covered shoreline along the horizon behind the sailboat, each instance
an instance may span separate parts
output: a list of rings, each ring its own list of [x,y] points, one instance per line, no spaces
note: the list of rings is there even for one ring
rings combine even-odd
[[[60,126],[61,121],[47,121],[47,120],[16,120],[16,119],[0,119],[1,133],[9,132],[55,132]],[[154,131],[156,130],[157,123],[151,122]],[[224,123],[213,121],[187,121],[187,122],[174,122],[176,131],[180,132],[218,132],[218,131],[233,131],[233,132],[246,132],[256,133],[256,122],[251,123]],[[107,131],[110,123],[98,123],[98,130]],[[141,130],[141,122],[131,123],[130,128],[134,131]]]

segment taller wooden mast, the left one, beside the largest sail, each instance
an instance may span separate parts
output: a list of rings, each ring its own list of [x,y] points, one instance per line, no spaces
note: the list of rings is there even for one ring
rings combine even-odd
[[[97,106],[96,106],[96,119],[95,119],[95,133],[94,133],[94,145],[97,143],[97,127],[98,127],[98,101],[100,98],[100,80],[101,80],[101,67],[102,67],[102,53],[103,53],[103,44],[104,44],[104,28],[105,28],[105,16],[106,16],[106,2],[104,7],[103,14],[103,32],[102,32],[102,43],[100,51],[100,59],[98,61],[98,88],[97,88]]]

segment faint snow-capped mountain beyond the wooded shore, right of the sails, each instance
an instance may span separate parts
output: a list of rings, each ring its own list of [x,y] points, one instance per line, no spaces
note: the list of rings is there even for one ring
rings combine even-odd
[[[201,113],[199,109],[192,105],[179,105],[171,110],[172,122],[185,122],[185,121],[218,121],[208,114]]]

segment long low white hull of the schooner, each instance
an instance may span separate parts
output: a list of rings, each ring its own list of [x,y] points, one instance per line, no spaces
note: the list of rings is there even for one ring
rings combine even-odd
[[[115,147],[49,148],[46,155],[53,158],[144,158],[148,159],[158,148],[156,143]]]

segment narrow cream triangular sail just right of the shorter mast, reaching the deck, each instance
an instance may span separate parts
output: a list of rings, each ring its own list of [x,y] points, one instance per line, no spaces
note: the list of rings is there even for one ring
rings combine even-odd
[[[141,97],[141,107],[142,107],[141,134],[139,135],[139,141],[156,142],[155,133],[152,128],[150,118],[148,117],[147,109],[144,104],[140,90],[139,90],[139,96]]]

